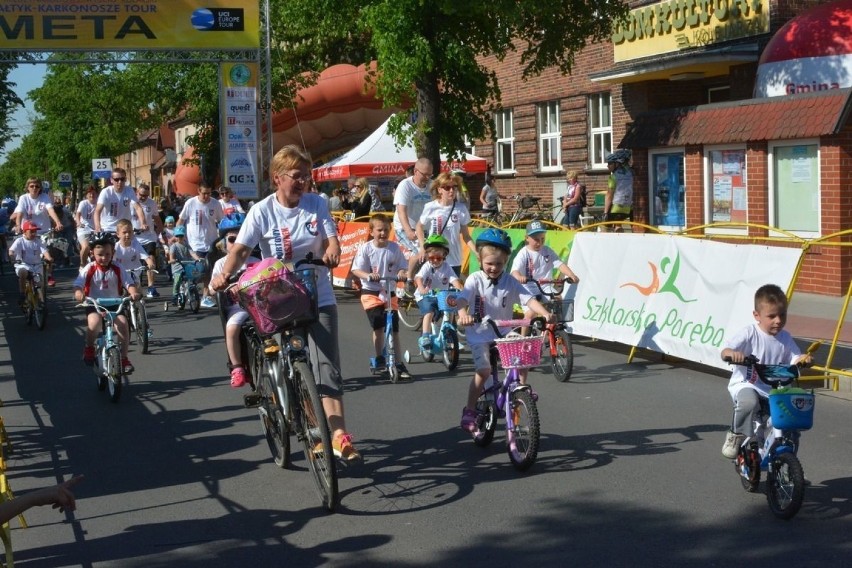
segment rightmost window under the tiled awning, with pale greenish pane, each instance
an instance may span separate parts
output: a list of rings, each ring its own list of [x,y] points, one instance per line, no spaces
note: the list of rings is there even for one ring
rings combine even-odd
[[[770,152],[770,224],[800,237],[820,235],[819,145],[773,144]]]

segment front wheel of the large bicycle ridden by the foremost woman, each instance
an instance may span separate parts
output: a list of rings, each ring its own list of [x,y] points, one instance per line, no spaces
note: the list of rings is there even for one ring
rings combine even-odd
[[[331,445],[331,433],[322,400],[314,382],[314,373],[304,361],[295,363],[296,400],[299,406],[299,427],[305,447],[305,457],[314,474],[317,491],[323,507],[334,511],[337,506],[337,464],[334,462],[334,449]]]

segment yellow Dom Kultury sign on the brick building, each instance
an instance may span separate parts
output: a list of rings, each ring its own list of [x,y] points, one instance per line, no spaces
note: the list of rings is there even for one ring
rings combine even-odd
[[[613,24],[616,63],[769,32],[767,0],[665,0]]]

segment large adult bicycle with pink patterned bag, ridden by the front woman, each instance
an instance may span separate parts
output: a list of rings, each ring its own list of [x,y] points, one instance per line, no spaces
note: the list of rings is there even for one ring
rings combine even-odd
[[[339,500],[337,465],[309,356],[308,327],[319,317],[314,266],[323,265],[322,260],[306,258],[273,278],[232,284],[229,293],[252,320],[243,328],[254,387],[244,396],[245,405],[258,409],[279,467],[291,463],[289,436],[295,434],[302,442],[322,505],[333,511]]]

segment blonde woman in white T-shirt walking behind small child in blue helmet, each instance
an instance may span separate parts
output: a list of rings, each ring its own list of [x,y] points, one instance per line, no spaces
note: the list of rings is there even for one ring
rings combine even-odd
[[[426,234],[441,235],[450,244],[449,264],[456,276],[461,276],[461,241],[464,239],[470,250],[476,250],[470,236],[470,211],[458,195],[461,177],[450,172],[442,172],[432,181],[432,201],[423,207],[415,232],[420,243],[420,262],[426,261],[426,249],[423,247]]]

